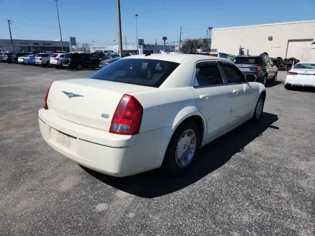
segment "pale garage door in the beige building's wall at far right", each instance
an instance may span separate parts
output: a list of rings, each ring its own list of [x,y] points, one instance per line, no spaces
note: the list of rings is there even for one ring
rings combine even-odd
[[[286,58],[303,59],[303,51],[311,48],[313,39],[292,39],[288,40]]]

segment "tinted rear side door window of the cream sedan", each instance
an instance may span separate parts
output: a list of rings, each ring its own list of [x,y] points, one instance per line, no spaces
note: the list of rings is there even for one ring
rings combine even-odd
[[[193,86],[210,86],[223,84],[216,62],[203,62],[196,66]]]

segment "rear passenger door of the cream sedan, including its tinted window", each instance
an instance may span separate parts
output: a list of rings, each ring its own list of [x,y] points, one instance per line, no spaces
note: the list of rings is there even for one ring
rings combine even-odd
[[[227,129],[232,93],[224,82],[218,64],[204,61],[196,64],[193,91],[197,106],[207,120],[205,140]]]

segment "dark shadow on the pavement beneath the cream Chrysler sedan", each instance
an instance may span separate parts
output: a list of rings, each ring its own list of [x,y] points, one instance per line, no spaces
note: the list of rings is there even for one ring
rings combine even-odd
[[[278,130],[272,124],[278,116],[263,113],[258,124],[246,122],[233,131],[225,134],[212,143],[200,149],[190,170],[180,177],[171,177],[160,169],[130,177],[111,177],[82,167],[85,171],[100,181],[127,193],[143,197],[155,198],[185,188],[220,168],[237,152],[256,137],[261,136],[267,128]]]

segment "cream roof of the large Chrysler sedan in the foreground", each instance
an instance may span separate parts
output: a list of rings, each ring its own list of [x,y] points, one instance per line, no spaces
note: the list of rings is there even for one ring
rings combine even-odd
[[[177,53],[177,54],[151,54],[146,56],[145,54],[141,55],[133,55],[123,59],[156,59],[156,60],[166,60],[181,63],[185,59],[196,59],[196,60],[218,60],[217,57],[212,57],[208,55],[199,55],[199,54],[184,54],[184,53]],[[220,59],[230,61],[228,59]]]

